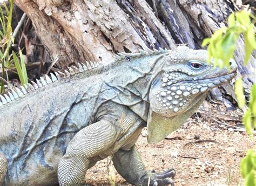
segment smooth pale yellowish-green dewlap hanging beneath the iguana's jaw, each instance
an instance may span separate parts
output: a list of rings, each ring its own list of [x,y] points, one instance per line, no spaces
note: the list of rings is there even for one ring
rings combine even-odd
[[[206,92],[207,93],[207,92]],[[199,95],[193,101],[186,111],[174,116],[166,117],[158,114],[150,108],[147,116],[147,142],[157,143],[164,140],[165,137],[178,129],[183,123],[197,111],[206,97],[206,93]]]

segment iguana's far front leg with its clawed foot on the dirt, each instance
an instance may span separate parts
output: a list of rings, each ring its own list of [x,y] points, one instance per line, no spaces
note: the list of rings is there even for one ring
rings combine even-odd
[[[132,184],[174,185],[173,180],[170,178],[174,177],[176,174],[174,169],[169,169],[165,171],[165,173],[154,173],[154,171],[147,173],[139,151],[135,145],[131,150],[119,149],[113,155],[113,163],[118,173]]]

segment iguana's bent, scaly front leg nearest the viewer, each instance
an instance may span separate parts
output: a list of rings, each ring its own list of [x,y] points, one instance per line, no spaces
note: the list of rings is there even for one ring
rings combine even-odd
[[[109,149],[117,139],[116,127],[100,120],[80,130],[69,142],[58,166],[59,185],[82,185],[90,159]]]

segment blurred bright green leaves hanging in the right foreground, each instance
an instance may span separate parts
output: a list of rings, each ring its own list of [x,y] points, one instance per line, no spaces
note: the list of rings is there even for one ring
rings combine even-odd
[[[254,24],[256,17],[247,11],[232,13],[228,17],[228,26],[222,27],[215,31],[211,38],[206,38],[202,46],[208,45],[208,61],[214,59],[214,65],[219,67],[230,68],[229,61],[233,58],[235,51],[235,43],[239,36],[244,36],[245,56],[244,65],[246,66],[250,60],[251,54],[256,50]],[[255,61],[254,61],[255,63]],[[254,69],[255,74],[256,70]],[[244,88],[242,87],[242,79],[239,78],[235,82],[235,94],[238,99],[240,108],[246,105]],[[251,135],[252,128],[256,128],[256,84],[251,87],[250,100],[246,105],[247,110],[244,113],[242,122],[244,123],[246,132]],[[240,171],[245,180],[245,185],[254,186],[256,173],[256,151],[249,150],[247,155],[242,159]]]

